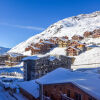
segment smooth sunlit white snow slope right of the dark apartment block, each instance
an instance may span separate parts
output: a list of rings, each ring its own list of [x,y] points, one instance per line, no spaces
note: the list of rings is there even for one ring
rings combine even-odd
[[[95,47],[76,56],[72,69],[100,67],[100,48]]]

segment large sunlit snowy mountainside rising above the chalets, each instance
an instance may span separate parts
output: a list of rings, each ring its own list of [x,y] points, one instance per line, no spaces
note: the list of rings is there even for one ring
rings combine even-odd
[[[82,36],[84,32],[93,31],[98,28],[100,28],[100,11],[91,14],[80,14],[54,23],[42,33],[13,47],[9,52],[25,54],[25,48],[32,43],[39,42],[40,39],[62,37],[66,35],[71,38],[75,34]]]

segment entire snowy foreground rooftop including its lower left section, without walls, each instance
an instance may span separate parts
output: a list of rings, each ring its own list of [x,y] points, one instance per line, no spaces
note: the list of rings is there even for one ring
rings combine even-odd
[[[92,77],[91,77],[92,76]],[[73,83],[88,94],[100,100],[100,75],[94,73],[85,73],[70,71],[65,68],[58,68],[37,80],[20,82],[18,85],[29,92],[35,98],[39,97],[39,85],[37,84],[57,84]]]

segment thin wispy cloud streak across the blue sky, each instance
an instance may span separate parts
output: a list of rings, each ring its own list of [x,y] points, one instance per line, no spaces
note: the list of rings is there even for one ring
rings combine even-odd
[[[38,31],[43,31],[44,30],[44,28],[42,28],[42,27],[36,27],[36,26],[12,25],[12,24],[8,24],[8,23],[0,23],[0,25],[10,26],[10,27],[16,27],[16,28],[21,28],[21,29],[38,30]]]

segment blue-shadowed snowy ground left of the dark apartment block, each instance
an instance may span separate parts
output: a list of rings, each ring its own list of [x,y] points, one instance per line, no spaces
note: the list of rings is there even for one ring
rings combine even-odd
[[[23,80],[23,63],[16,66],[0,66],[0,80],[22,81]]]

